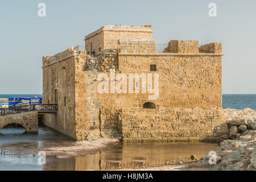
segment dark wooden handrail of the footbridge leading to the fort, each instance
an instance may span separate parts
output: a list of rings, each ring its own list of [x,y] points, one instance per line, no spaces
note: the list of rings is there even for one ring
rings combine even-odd
[[[57,104],[31,104],[0,109],[0,116],[9,114],[20,114],[29,111],[57,111]]]

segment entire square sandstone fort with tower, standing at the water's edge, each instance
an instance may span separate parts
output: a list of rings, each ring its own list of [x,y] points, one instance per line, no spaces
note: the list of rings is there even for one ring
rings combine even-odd
[[[43,57],[43,102],[58,105],[56,114],[45,114],[44,125],[75,140],[217,140],[228,134],[221,43],[199,47],[196,40],[171,40],[158,52],[149,24],[103,26],[84,40],[85,50],[71,47]],[[102,73],[110,79],[99,80]],[[98,92],[100,82],[111,85],[111,74],[119,73],[139,75],[132,92],[105,86],[109,92]],[[143,75],[150,73],[159,80],[151,85],[159,89],[154,100],[142,92]]]

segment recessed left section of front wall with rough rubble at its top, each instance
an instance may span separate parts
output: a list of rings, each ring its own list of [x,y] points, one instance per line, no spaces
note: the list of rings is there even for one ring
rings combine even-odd
[[[110,73],[110,69],[118,72],[118,52],[106,49],[97,57],[77,57],[76,64],[76,134],[78,140],[92,138],[121,137],[118,130],[118,109],[113,101],[117,96],[108,97],[97,91],[97,76]],[[98,105],[98,106],[97,106]]]

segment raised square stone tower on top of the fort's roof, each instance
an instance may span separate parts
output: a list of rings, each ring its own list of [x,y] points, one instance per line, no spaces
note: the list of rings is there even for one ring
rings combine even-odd
[[[91,54],[90,43],[92,49],[96,51],[96,55],[104,49],[117,49],[118,40],[125,38],[135,39],[151,39],[152,27],[145,26],[103,26],[97,31],[85,36],[86,53]]]

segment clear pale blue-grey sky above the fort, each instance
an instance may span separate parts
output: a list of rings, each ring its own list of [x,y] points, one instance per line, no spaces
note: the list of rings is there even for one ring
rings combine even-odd
[[[46,17],[38,4],[46,3]],[[217,17],[208,15],[216,3]],[[171,39],[221,42],[222,92],[256,93],[256,1],[60,1],[0,2],[0,94],[42,93],[42,56],[84,44],[107,24],[152,24],[158,43]]]

